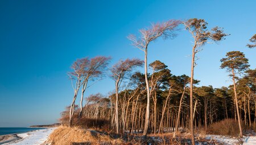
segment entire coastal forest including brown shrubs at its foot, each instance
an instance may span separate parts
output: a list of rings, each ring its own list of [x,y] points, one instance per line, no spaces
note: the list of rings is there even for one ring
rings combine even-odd
[[[187,31],[191,35],[188,42],[192,41],[191,66],[187,66],[191,74],[181,76],[172,74],[162,61],[147,61],[151,43],[175,41],[179,31]],[[225,41],[228,36],[221,27],[209,28],[204,19],[173,19],[142,28],[138,36],[127,36],[131,48],[141,50],[143,60],[127,58],[110,66],[108,56],[77,59],[68,72],[74,93],[71,105],[61,113],[61,125],[106,131],[125,140],[119,144],[158,144],[148,141],[150,136],[164,134],[168,139],[162,144],[197,144],[200,134],[243,138],[256,132],[256,69],[250,68],[243,52],[227,52],[220,60],[232,85],[199,86],[200,80],[194,78],[194,69],[200,65],[196,56],[204,45]],[[245,49],[255,47],[256,34],[245,43]],[[111,93],[84,96],[89,84],[101,83],[106,77],[112,78],[115,86]],[[188,140],[184,141],[185,134]]]

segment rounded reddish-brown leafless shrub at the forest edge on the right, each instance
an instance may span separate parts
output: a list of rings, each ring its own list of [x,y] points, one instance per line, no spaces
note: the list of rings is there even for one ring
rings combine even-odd
[[[239,134],[238,122],[235,121],[234,119],[224,119],[220,122],[215,122],[208,127],[207,133],[216,134],[216,135],[238,136]]]

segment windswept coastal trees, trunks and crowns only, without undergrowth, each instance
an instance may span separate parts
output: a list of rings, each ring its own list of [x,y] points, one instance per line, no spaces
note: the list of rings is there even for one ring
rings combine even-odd
[[[149,65],[147,62],[149,44],[160,37],[175,38],[175,31],[180,25],[184,26],[193,38],[190,77],[185,74],[171,74],[167,65],[159,60]],[[242,135],[242,119],[246,125],[249,123],[251,126],[254,118],[255,124],[256,70],[249,69],[248,60],[242,52],[228,52],[226,57],[221,59],[221,68],[230,72],[233,85],[228,88],[196,87],[195,84],[200,82],[193,78],[196,54],[202,50],[203,45],[223,40],[228,36],[220,27],[208,30],[207,25],[204,19],[194,18],[185,22],[169,20],[140,30],[141,36],[128,36],[132,44],[144,52],[144,61],[126,59],[114,64],[109,68],[109,76],[115,82],[115,93],[105,97],[100,94],[89,96],[85,105],[82,105],[82,101],[84,92],[89,87],[88,81],[96,81],[105,76],[110,57],[86,57],[77,60],[72,65],[73,71],[69,73],[71,80],[75,80],[72,81],[74,96],[69,111],[69,126],[72,126],[76,110],[75,101],[81,88],[80,107],[77,107],[78,118],[108,119],[118,134],[126,131],[133,134],[143,130],[143,136],[146,137],[149,131],[156,134],[161,131],[176,133],[179,129],[189,129],[192,144],[195,144],[195,128],[204,126],[207,130],[207,126],[213,122],[236,118]],[[247,44],[249,48],[255,47],[255,37],[256,35],[250,39],[253,44]],[[135,72],[135,68],[142,67],[143,64],[144,72]],[[148,67],[151,73],[148,73]],[[241,77],[241,74],[245,75]]]

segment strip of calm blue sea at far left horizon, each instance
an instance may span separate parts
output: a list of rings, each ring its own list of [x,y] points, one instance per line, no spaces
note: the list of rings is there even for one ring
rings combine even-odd
[[[16,134],[22,132],[28,132],[33,130],[40,130],[44,128],[30,128],[30,127],[0,127],[0,135]]]

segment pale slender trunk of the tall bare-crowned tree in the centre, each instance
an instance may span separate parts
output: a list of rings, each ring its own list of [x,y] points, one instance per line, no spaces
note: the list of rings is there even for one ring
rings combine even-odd
[[[143,137],[146,138],[147,131],[148,131],[149,117],[150,117],[150,88],[149,88],[148,79],[147,79],[147,47],[144,50],[144,53],[145,53],[145,56],[144,56],[145,81],[146,81],[146,88],[147,88],[147,107],[146,107]]]

